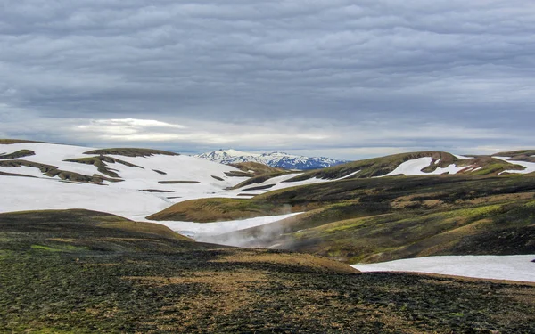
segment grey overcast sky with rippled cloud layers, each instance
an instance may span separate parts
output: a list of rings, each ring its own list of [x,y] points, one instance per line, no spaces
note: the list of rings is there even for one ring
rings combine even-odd
[[[0,138],[362,159],[535,146],[526,0],[2,0]]]

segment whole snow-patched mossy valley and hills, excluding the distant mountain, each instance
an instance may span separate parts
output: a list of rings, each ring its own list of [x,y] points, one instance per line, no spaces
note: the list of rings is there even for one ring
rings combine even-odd
[[[5,332],[535,330],[532,151],[298,171],[0,143]]]

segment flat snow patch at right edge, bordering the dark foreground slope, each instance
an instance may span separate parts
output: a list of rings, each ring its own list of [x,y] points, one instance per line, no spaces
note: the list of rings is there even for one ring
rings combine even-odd
[[[535,255],[417,257],[351,265],[361,272],[441,273],[483,279],[535,282]]]

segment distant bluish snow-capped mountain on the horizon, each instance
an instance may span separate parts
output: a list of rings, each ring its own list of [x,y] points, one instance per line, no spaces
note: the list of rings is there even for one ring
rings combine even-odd
[[[270,167],[279,167],[284,169],[317,169],[333,167],[343,164],[347,161],[338,159],[329,159],[325,157],[303,157],[292,155],[284,152],[271,153],[248,153],[235,150],[218,150],[208,153],[202,153],[195,156],[196,158],[207,159],[222,164],[237,164],[240,162],[258,162]]]

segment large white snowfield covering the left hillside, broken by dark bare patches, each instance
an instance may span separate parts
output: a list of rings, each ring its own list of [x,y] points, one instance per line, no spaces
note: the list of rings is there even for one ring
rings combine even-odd
[[[93,165],[64,161],[65,159],[94,157],[95,155],[84,154],[86,151],[93,150],[92,148],[50,143],[0,145],[0,151],[3,152],[12,153],[20,150],[31,150],[36,153],[34,156],[24,157],[21,160],[52,165],[82,175],[102,175]],[[243,181],[241,178],[233,178],[225,174],[225,172],[238,171],[234,167],[184,155],[152,155],[146,158],[113,155],[108,157],[127,161],[139,167],[107,163],[107,167],[119,174],[124,181],[118,183],[104,181],[102,184],[66,183],[58,176],[43,175],[36,167],[0,167],[0,172],[39,177],[0,175],[0,187],[8,193],[0,200],[0,212],[45,208],[87,208],[128,218],[148,216],[181,200],[235,197],[237,191],[229,192],[226,188]],[[0,161],[9,161],[9,159]],[[217,176],[223,181],[212,176]],[[160,182],[181,183],[162,184]],[[143,192],[142,190],[169,192]]]

